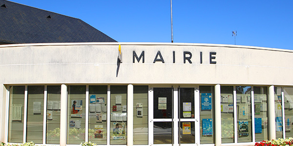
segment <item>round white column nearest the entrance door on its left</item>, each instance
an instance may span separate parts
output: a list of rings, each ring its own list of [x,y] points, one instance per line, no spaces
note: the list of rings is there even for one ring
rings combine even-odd
[[[127,146],[133,146],[133,85],[127,86]]]

